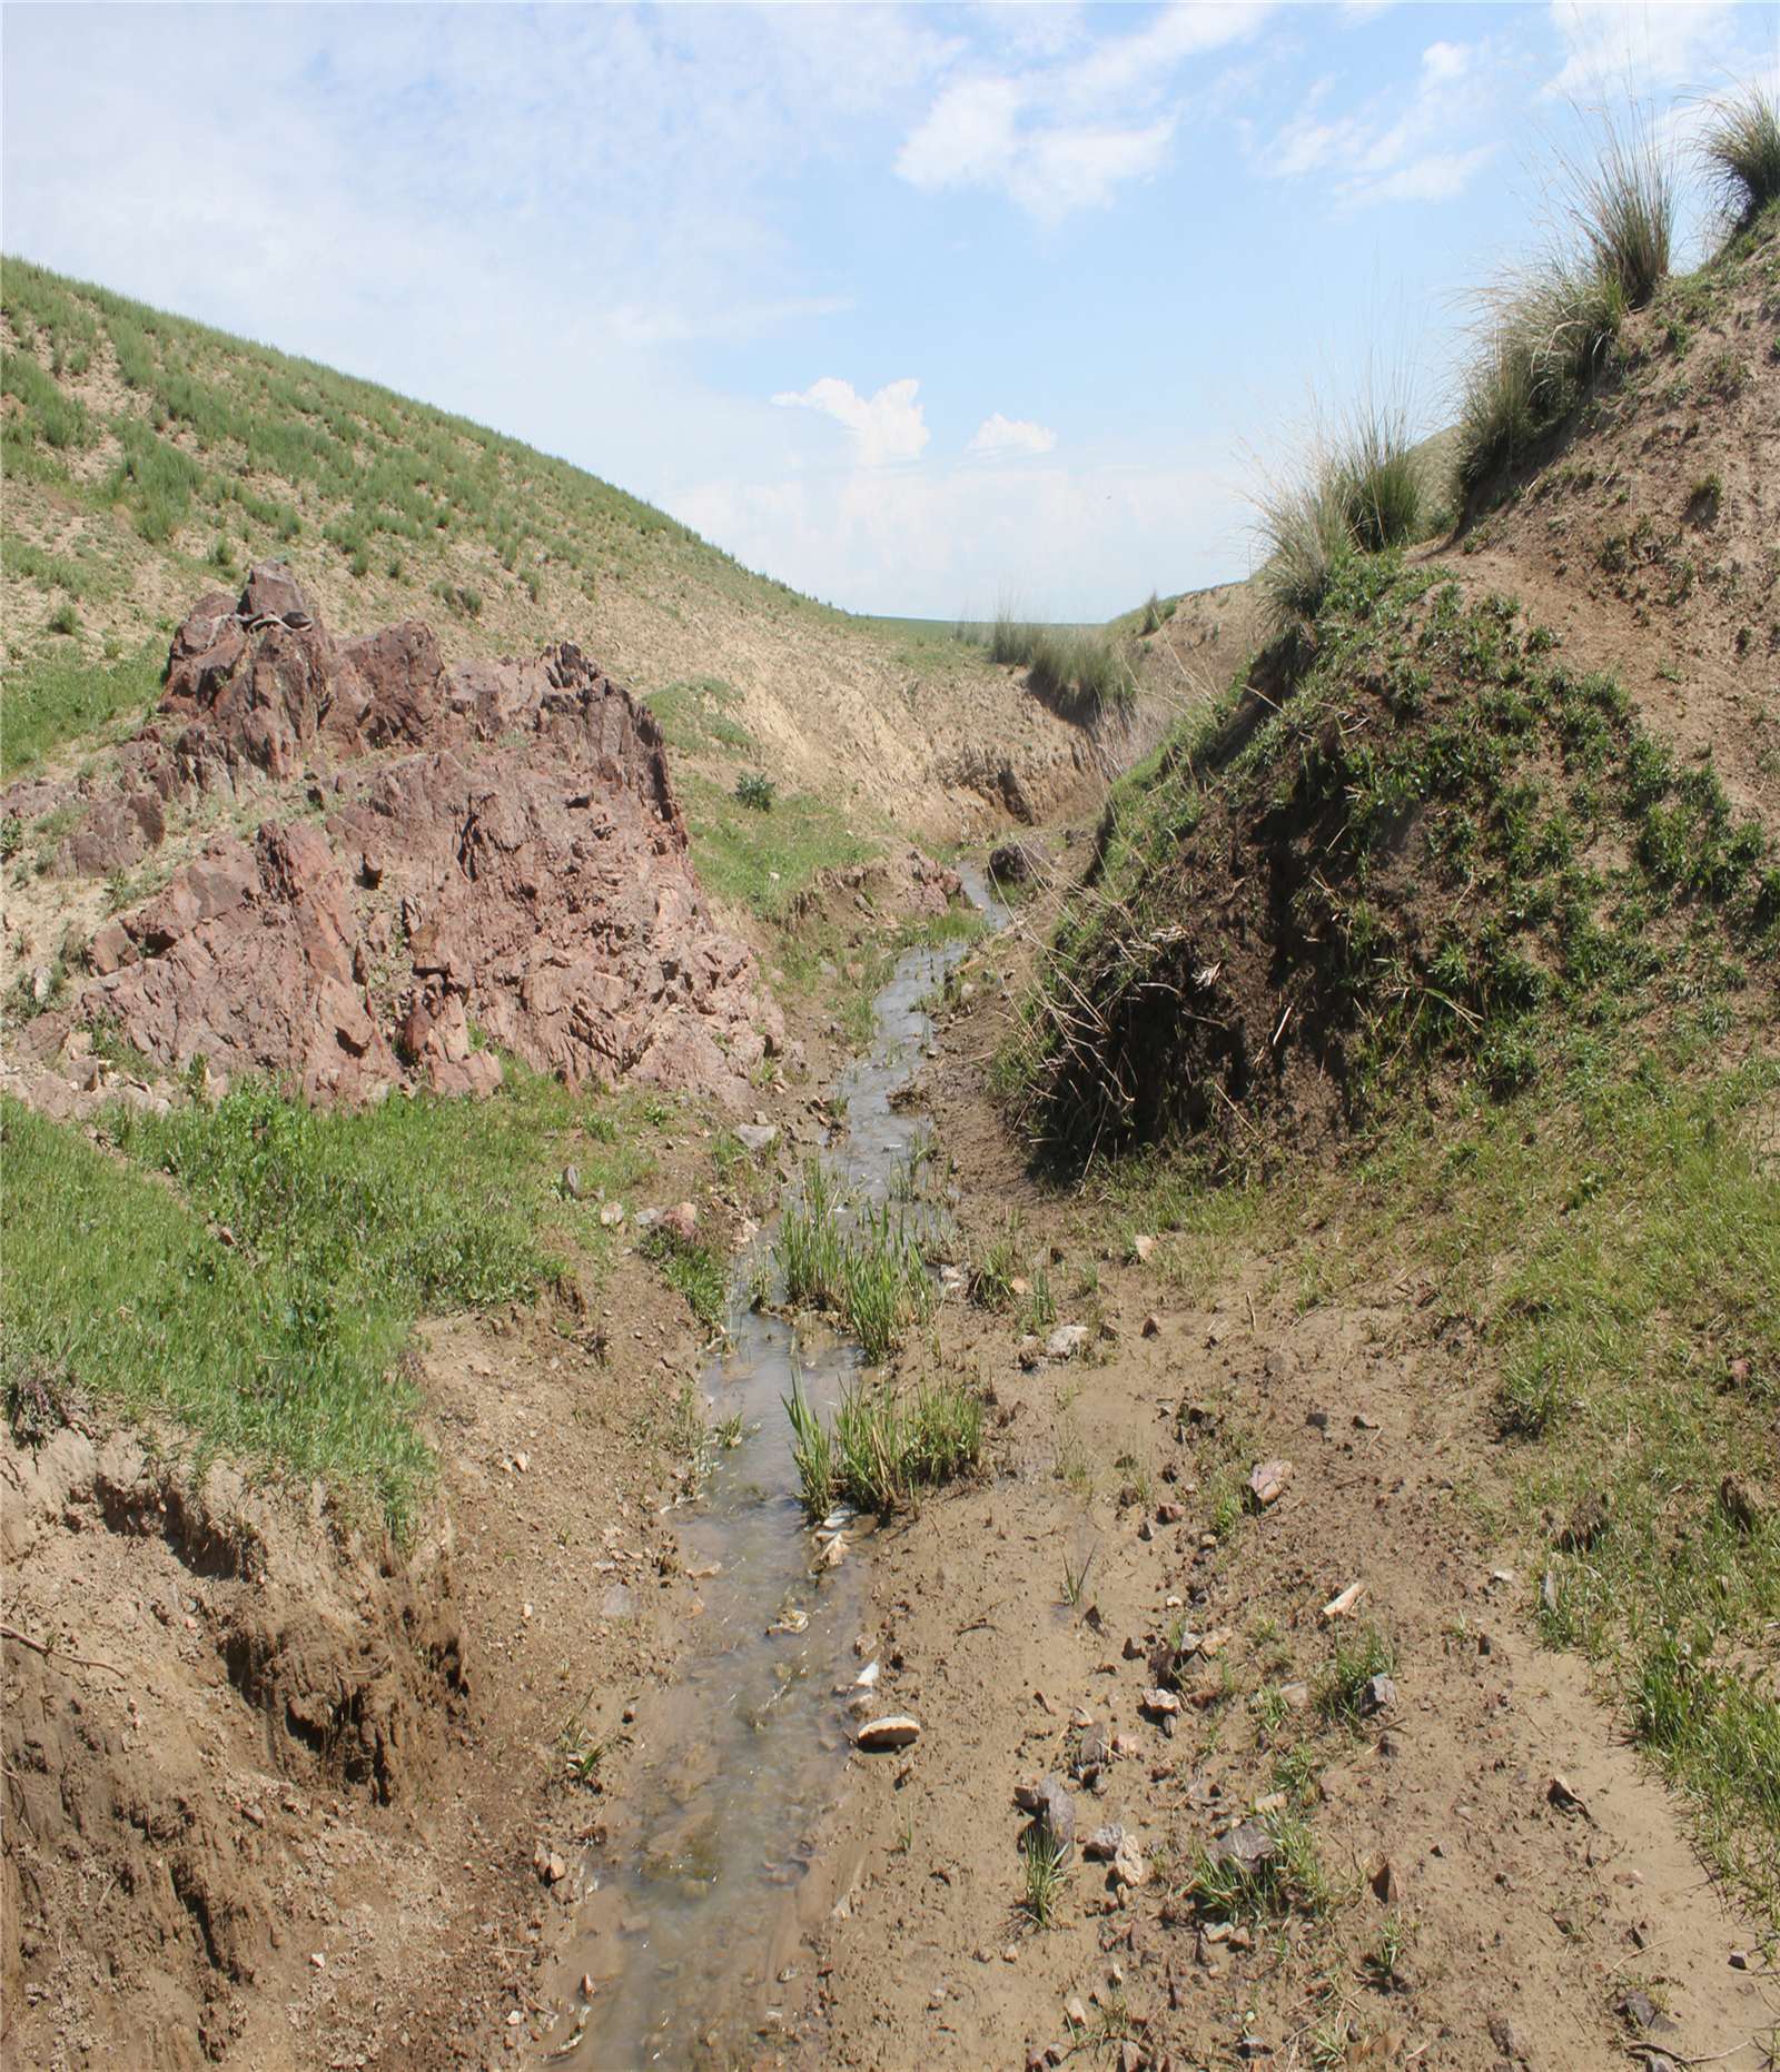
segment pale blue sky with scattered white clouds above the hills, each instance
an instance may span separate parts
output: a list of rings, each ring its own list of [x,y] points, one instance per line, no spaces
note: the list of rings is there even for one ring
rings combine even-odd
[[[1243,574],[1318,412],[1434,427],[1579,108],[1768,4],[8,4],[0,236],[566,454],[864,611]]]

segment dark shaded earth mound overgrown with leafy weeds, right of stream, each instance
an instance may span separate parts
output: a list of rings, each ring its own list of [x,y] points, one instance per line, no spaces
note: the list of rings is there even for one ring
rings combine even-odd
[[[1579,1032],[1772,1013],[1772,837],[1612,678],[1368,555],[1312,655],[1115,792],[1007,1061],[1036,1142],[1353,1125],[1432,1063],[1511,1092]]]

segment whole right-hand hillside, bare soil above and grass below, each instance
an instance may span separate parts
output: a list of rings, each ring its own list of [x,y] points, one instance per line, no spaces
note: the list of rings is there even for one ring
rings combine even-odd
[[[1303,1307],[1432,1276],[1529,1614],[1770,1912],[1776,423],[1770,201],[1612,309],[1451,537],[1314,472],[1256,580],[1127,630],[1227,688],[1115,787],[999,1061],[1131,1229],[1283,1202]]]

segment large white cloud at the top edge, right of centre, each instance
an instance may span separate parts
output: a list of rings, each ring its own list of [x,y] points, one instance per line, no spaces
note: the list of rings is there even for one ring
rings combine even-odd
[[[1053,21],[1042,41],[1015,44],[1013,70],[947,81],[903,139],[895,170],[924,193],[1003,193],[1040,222],[1104,207],[1117,189],[1167,164],[1181,64],[1250,35],[1264,12],[1177,0],[1142,29],[1086,48],[1061,33],[1067,17]]]

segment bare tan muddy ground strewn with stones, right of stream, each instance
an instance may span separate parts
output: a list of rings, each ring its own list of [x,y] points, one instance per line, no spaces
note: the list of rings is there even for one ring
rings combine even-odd
[[[837,1904],[763,2035],[800,2066],[1755,2072],[1763,1925],[1535,1633],[1475,1320],[1428,1272],[1305,1305],[1291,1254],[1133,1245],[1036,1185],[986,1092],[1001,988],[972,978],[922,1075],[964,1251],[1015,1214],[1086,1330],[1046,1349],[953,1297],[920,1351],[982,1380],[991,1473],[874,1542],[862,1647],[922,1732],[856,1757]],[[1073,1848],[1038,1927],[1015,1790],[1046,1776]],[[1258,1844],[1260,1921],[1187,1896],[1245,1821],[1297,1850]]]

